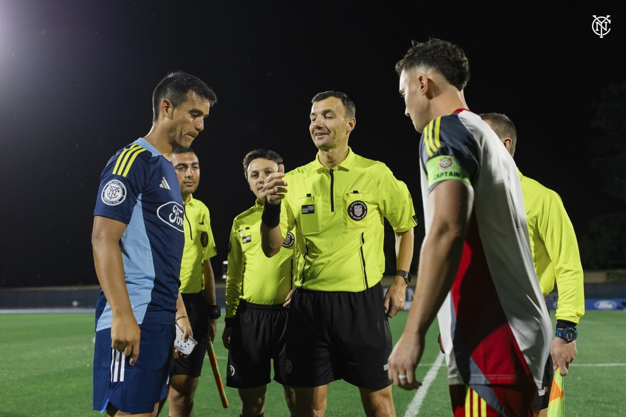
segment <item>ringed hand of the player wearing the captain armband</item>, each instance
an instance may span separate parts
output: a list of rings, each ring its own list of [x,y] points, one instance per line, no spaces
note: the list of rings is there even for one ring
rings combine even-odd
[[[403,333],[389,355],[389,379],[403,389],[419,388],[422,383],[415,379],[415,369],[423,353],[423,337]]]

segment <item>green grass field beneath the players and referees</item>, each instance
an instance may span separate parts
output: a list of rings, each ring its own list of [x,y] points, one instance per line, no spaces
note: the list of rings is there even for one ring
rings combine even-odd
[[[406,312],[391,320],[394,340],[404,329]],[[222,323],[220,325],[223,326]],[[626,312],[589,311],[578,326],[578,356],[565,378],[565,415],[611,417],[626,415]],[[93,313],[0,314],[0,416],[97,416],[91,410]],[[218,334],[222,328],[218,327]],[[428,389],[394,387],[398,416],[450,416],[444,366],[439,356],[438,329],[431,327],[418,379],[431,370]],[[220,373],[225,380],[227,351],[215,342]],[[195,400],[196,416],[238,416],[239,397],[226,389],[230,406],[222,408],[208,360]],[[167,416],[167,406],[160,414]],[[329,386],[326,415],[364,415],[357,388],[344,381]],[[268,386],[265,416],[289,416],[277,383]]]

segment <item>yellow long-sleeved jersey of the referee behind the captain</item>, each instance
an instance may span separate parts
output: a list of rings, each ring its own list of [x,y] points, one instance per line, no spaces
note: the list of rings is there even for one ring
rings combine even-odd
[[[557,319],[577,323],[585,314],[585,296],[574,227],[556,192],[518,173],[541,292],[550,294],[556,280]]]

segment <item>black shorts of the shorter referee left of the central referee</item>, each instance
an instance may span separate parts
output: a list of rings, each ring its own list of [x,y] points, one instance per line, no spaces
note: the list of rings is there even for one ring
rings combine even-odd
[[[228,350],[226,386],[257,388],[271,379],[285,383],[285,324],[289,309],[239,301]]]

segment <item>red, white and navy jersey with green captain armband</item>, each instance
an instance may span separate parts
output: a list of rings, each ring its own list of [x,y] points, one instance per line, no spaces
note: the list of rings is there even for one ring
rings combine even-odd
[[[445,180],[474,190],[471,224],[453,286],[439,309],[449,384],[523,384],[541,377],[552,325],[533,267],[515,162],[480,116],[431,121],[420,144],[424,219]]]

